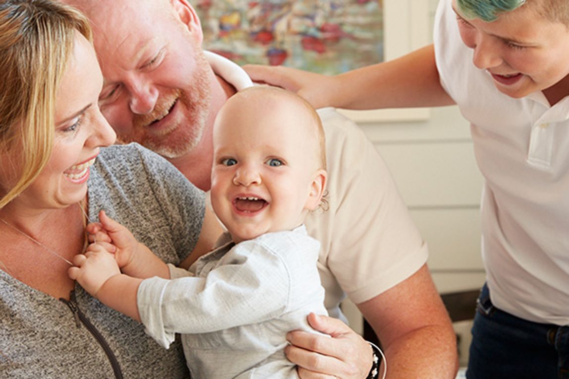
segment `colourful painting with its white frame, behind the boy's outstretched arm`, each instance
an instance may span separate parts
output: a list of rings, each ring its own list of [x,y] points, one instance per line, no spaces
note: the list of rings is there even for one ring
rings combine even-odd
[[[389,60],[425,44],[428,30],[425,3],[425,0],[193,2],[207,50],[238,64],[282,64],[327,75]],[[428,110],[345,111],[345,114],[357,122],[419,120],[428,117]]]

